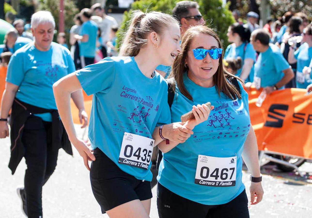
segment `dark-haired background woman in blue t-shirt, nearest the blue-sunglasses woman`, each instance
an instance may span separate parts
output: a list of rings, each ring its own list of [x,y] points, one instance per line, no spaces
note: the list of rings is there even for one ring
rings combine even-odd
[[[227,30],[229,42],[224,53],[224,59],[241,57],[242,68],[237,70],[237,76],[245,83],[253,81],[253,65],[256,62],[256,51],[249,43],[251,32],[240,23],[233,23]]]

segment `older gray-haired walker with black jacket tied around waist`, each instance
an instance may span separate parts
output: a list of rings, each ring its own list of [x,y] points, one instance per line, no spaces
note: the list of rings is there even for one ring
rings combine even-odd
[[[70,52],[52,42],[55,21],[50,12],[32,15],[31,29],[35,41],[14,53],[7,69],[6,89],[0,111],[0,138],[9,136],[7,118],[12,109],[11,158],[9,168],[14,174],[18,163],[25,157],[25,188],[18,188],[23,212],[28,217],[42,217],[42,186],[52,175],[58,149],[72,154],[71,144],[59,119],[52,85],[63,76],[75,71]],[[80,121],[85,126],[81,90],[71,94],[79,109]]]

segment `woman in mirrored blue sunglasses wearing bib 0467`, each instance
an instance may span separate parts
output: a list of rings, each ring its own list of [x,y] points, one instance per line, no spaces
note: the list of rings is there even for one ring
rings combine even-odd
[[[180,121],[192,107],[193,113],[200,110],[184,124],[193,130],[184,143],[158,144],[163,152],[157,177],[159,217],[249,217],[242,157],[251,172],[251,204],[261,201],[263,189],[248,94],[224,70],[222,43],[212,29],[189,28],[181,51],[169,76],[175,80],[171,121]],[[207,114],[201,104],[208,101],[214,107]]]

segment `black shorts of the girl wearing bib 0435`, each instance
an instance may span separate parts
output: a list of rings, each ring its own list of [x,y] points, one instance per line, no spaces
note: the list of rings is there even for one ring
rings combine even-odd
[[[91,188],[102,213],[129,201],[152,198],[151,182],[122,171],[99,148],[93,154],[96,160],[90,168]]]

